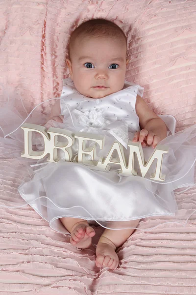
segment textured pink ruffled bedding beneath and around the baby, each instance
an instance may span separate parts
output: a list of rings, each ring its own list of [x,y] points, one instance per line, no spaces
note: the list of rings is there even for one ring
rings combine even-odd
[[[68,76],[70,33],[93,17],[105,17],[124,30],[130,59],[126,80],[145,88],[149,107],[158,115],[173,115],[176,131],[196,123],[195,0],[0,1],[0,83],[11,97],[20,90],[30,111],[59,96],[62,78]],[[50,109],[49,103],[40,107],[45,114]],[[0,175],[7,174],[6,181],[0,180],[5,204],[14,201],[20,178],[20,166],[8,171],[8,161],[0,160]],[[30,206],[0,207],[0,294],[195,295],[196,212],[187,224],[185,215],[196,210],[196,187],[176,191],[176,200],[175,219],[140,222],[119,248],[120,266],[114,271],[95,266],[100,227],[91,248],[78,250]],[[170,223],[162,225],[165,219]],[[154,226],[150,232],[139,230]]]

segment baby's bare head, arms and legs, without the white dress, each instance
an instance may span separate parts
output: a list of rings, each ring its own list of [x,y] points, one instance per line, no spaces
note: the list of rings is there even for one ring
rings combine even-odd
[[[69,58],[66,62],[77,91],[87,97],[100,99],[123,89],[129,62],[126,59],[126,47],[123,30],[108,20],[89,20],[76,28],[70,37]],[[135,108],[141,131],[135,133],[133,142],[140,141],[143,147],[155,148],[167,136],[167,127],[139,95]],[[62,122],[63,117],[59,114],[60,106],[53,111],[52,116],[54,120]],[[86,220],[63,217],[61,222],[71,233],[70,242],[73,245],[79,248],[91,245],[95,231]],[[131,220],[129,226],[136,228],[138,223],[139,220]],[[116,268],[119,265],[116,249],[133,231],[105,229],[98,241],[96,265]]]

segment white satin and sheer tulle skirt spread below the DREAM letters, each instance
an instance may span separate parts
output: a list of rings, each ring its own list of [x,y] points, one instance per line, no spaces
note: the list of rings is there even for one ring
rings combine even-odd
[[[5,114],[5,109],[0,110],[0,118],[1,112]],[[26,121],[36,123],[35,118],[32,120],[29,117]],[[61,217],[82,218],[104,228],[120,230],[132,228],[131,220],[175,216],[178,208],[174,190],[195,184],[196,125],[169,135],[159,143],[169,147],[161,170],[166,175],[165,181],[160,182],[150,179],[156,160],[147,175],[142,177],[137,160],[135,168],[138,175],[122,176],[116,169],[97,171],[81,163],[66,162],[63,157],[57,163],[21,158],[24,135],[18,127],[23,121],[24,118],[16,110],[6,108],[6,116],[0,122],[0,158],[7,165],[7,174],[2,174],[1,180],[8,177],[10,171],[13,173],[14,166],[20,170],[17,178],[19,194],[15,202],[1,200],[0,206],[29,204],[58,232],[68,233],[60,221]],[[40,122],[37,120],[37,124]],[[55,122],[54,127],[62,126],[66,128],[65,124]],[[107,135],[107,138],[109,143],[112,135]],[[146,161],[153,150],[151,147],[143,148]]]

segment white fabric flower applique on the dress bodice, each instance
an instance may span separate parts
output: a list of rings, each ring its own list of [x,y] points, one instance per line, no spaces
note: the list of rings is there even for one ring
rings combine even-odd
[[[78,117],[78,122],[83,127],[104,128],[105,118],[103,117],[103,110],[86,111],[83,115]]]

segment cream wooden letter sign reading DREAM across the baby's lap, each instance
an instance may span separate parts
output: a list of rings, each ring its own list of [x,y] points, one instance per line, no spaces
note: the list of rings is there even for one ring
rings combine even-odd
[[[119,142],[115,141],[113,146],[111,147],[107,156],[99,161],[95,161],[96,148],[99,145],[99,148],[102,149],[104,147],[104,136],[98,134],[90,134],[84,132],[78,132],[75,135],[68,130],[61,128],[53,128],[50,127],[47,129],[40,125],[25,123],[21,127],[25,133],[25,151],[21,155],[21,157],[29,158],[29,159],[42,159],[47,154],[49,154],[48,162],[58,162],[57,157],[57,149],[61,149],[65,153],[65,161],[73,162],[73,152],[72,146],[74,140],[78,141],[78,154],[77,154],[77,162],[83,163],[85,165],[91,164],[94,167],[91,169],[106,171],[108,170],[109,164],[118,164],[121,166],[121,173],[123,176],[137,176],[137,171],[134,169],[134,154],[137,155],[137,159],[139,162],[139,167],[141,170],[142,177],[145,177],[147,171],[149,170],[152,162],[157,159],[155,173],[151,174],[150,179],[164,181],[165,175],[161,174],[161,167],[163,163],[163,154],[168,153],[169,148],[162,145],[157,145],[153,150],[151,157],[146,162],[144,159],[144,153],[142,149],[142,145],[140,142],[133,143],[131,141],[128,142],[129,147],[129,159],[128,164],[125,163],[123,146]],[[44,140],[44,150],[43,151],[34,151],[32,150],[32,132],[38,132],[42,135]],[[67,143],[58,142],[58,136],[63,136],[67,139]],[[86,148],[84,141],[94,141],[97,145],[93,148]],[[114,161],[111,160],[113,152],[116,151],[118,153],[119,160]],[[83,159],[83,154],[87,154],[91,157],[91,161],[87,161]]]

